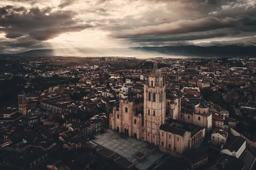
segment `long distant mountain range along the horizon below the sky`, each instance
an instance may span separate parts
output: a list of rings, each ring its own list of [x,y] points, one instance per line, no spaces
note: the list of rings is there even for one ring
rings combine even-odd
[[[130,48],[34,49],[18,55],[180,55],[180,56],[249,56],[256,57],[256,44],[229,46],[144,46]]]

